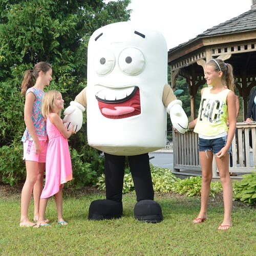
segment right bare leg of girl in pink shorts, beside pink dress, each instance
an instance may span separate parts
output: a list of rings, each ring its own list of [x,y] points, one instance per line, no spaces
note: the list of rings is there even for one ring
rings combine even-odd
[[[34,221],[38,220],[39,215],[39,201],[42,193],[42,187],[44,186],[44,172],[46,164],[38,163],[37,179],[33,189],[34,196]]]

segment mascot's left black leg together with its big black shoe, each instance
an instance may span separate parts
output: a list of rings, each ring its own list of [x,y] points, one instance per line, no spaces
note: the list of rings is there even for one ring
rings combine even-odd
[[[105,156],[106,199],[95,200],[89,208],[90,220],[117,219],[123,215],[122,190],[124,176],[124,156]]]

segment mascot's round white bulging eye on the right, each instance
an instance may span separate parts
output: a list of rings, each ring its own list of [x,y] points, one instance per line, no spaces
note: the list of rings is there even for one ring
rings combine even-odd
[[[119,67],[127,75],[138,75],[145,65],[142,52],[136,48],[124,49],[118,59]]]

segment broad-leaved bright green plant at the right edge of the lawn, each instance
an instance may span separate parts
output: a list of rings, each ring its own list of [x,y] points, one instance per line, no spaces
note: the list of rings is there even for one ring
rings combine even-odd
[[[256,172],[242,177],[242,181],[233,184],[234,199],[248,204],[256,204]]]

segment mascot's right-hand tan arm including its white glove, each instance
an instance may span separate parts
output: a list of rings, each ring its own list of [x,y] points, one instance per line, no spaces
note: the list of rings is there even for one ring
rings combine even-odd
[[[170,120],[175,129],[184,134],[188,129],[187,115],[182,109],[182,102],[174,95],[172,88],[165,84],[163,89],[163,104],[167,108],[167,113],[170,114]]]

